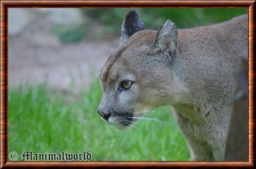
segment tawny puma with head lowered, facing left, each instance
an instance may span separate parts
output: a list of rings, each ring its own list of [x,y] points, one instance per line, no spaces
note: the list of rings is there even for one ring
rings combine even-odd
[[[247,57],[247,15],[180,30],[167,20],[154,31],[132,10],[101,70],[98,113],[125,128],[142,116],[135,112],[170,105],[191,160],[224,160],[242,57]]]

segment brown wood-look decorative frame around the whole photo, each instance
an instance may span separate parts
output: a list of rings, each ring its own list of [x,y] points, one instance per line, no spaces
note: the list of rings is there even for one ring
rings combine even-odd
[[[248,8],[249,12],[249,160],[245,162],[11,162],[8,160],[8,8],[152,8],[152,7],[229,7]],[[1,1],[1,168],[2,167],[255,167],[254,165],[254,9],[255,1]]]

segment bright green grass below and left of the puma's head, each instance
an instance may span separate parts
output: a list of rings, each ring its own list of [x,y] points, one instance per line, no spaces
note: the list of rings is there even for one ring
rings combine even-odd
[[[141,120],[136,128],[118,130],[97,114],[102,94],[98,80],[72,102],[65,99],[68,94],[46,86],[9,88],[9,153],[88,151],[94,161],[188,160],[186,142],[170,107],[146,115],[166,123]]]

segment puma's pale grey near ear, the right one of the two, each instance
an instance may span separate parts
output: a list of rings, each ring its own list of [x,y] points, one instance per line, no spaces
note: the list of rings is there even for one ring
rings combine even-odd
[[[161,51],[164,54],[172,54],[177,47],[178,32],[175,24],[167,20],[158,31],[153,40],[152,47],[155,51]]]

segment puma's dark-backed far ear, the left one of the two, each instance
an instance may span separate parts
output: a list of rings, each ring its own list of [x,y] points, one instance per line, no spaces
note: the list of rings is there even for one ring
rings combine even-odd
[[[131,10],[125,15],[123,19],[120,41],[126,41],[133,34],[144,29],[145,27],[142,20],[140,19],[139,14],[135,10]]]

